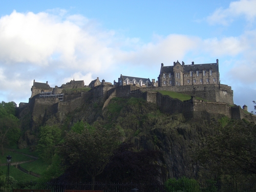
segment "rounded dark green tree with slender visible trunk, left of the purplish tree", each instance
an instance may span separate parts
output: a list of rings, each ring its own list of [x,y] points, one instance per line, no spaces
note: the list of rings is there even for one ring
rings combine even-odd
[[[85,127],[81,134],[71,130],[59,146],[59,152],[66,165],[80,167],[91,176],[94,189],[95,178],[112,159],[120,144],[120,137],[119,131],[102,127]]]

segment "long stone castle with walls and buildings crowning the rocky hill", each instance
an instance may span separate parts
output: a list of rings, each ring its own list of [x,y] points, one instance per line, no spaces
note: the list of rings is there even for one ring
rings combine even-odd
[[[81,88],[80,91],[78,88]],[[87,91],[82,90],[88,88]],[[65,92],[64,90],[71,90]],[[89,90],[90,89],[90,90]],[[72,91],[74,90],[74,91]],[[78,90],[78,91],[77,91]],[[89,90],[89,91],[88,91]],[[162,95],[159,91],[173,91],[188,94],[191,99],[180,101]],[[165,113],[182,113],[186,118],[201,118],[225,115],[232,119],[248,119],[256,122],[256,116],[233,104],[231,87],[220,84],[219,61],[216,63],[185,65],[177,61],[174,66],[161,64],[158,81],[149,78],[138,78],[120,75],[114,84],[93,80],[89,86],[84,86],[81,80],[71,80],[61,87],[51,88],[46,83],[33,82],[29,103],[20,103],[19,108],[30,105],[34,117],[40,116],[48,109],[51,114],[58,114],[63,119],[66,114],[81,106],[86,99],[103,102],[103,109],[113,97],[140,97],[148,102],[156,103]],[[201,98],[201,99],[197,99]],[[44,106],[44,107],[42,107]]]

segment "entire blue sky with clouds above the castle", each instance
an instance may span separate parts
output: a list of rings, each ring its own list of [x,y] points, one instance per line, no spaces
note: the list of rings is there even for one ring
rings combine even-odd
[[[254,111],[256,0],[0,0],[1,101],[28,102],[34,79],[157,80],[161,63],[216,59],[234,104]]]

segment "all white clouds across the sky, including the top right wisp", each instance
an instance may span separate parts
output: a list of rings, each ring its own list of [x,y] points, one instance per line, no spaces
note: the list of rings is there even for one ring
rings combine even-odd
[[[243,10],[254,3],[233,2],[227,9],[216,10],[208,20],[224,24],[241,14],[252,20],[255,11]],[[52,87],[73,78],[86,84],[96,77],[113,82],[120,74],[156,79],[161,62],[173,65],[177,59],[188,64],[215,62],[219,58],[225,83],[255,86],[244,75],[248,71],[250,75],[256,73],[255,29],[222,38],[202,39],[184,34],[152,37],[152,42],[123,37],[113,29],[101,28],[95,20],[69,15],[65,10],[13,11],[0,18],[0,98],[27,102],[33,79],[48,81]]]

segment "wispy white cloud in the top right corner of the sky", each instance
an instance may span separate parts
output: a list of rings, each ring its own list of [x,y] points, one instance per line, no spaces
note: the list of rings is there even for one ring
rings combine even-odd
[[[231,2],[227,9],[219,8],[207,17],[211,25],[229,25],[238,16],[244,16],[248,22],[253,22],[256,17],[256,0],[240,0]]]

